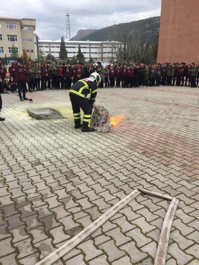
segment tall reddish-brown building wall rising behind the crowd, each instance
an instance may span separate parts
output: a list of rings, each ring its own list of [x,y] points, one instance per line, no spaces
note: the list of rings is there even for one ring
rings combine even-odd
[[[199,64],[199,0],[162,0],[157,61]]]

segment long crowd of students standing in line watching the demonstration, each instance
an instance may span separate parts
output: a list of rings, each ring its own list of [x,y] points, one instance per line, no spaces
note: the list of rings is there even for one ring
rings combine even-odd
[[[88,78],[91,73],[100,74],[101,83],[99,88],[138,88],[152,86],[190,86],[196,88],[199,79],[199,65],[194,62],[190,65],[186,63],[158,63],[146,64],[140,63],[130,65],[123,63],[120,65],[117,61],[113,64],[110,61],[105,68],[100,62],[97,65],[93,62],[90,65],[82,63],[65,64],[45,61],[39,64],[38,61],[28,61],[23,64],[21,58],[13,62],[9,67],[9,80],[6,78],[6,68],[0,61],[0,81],[4,92],[11,91],[18,94],[20,100],[28,100],[26,92],[43,91],[48,89],[70,89],[72,82],[79,79]],[[23,97],[21,95],[23,93]]]

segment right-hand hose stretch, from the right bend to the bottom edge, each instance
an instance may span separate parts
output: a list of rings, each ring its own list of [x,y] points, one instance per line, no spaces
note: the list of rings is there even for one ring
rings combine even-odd
[[[169,209],[167,210],[162,230],[160,233],[160,239],[155,257],[154,265],[164,265],[166,261],[167,249],[169,245],[169,234],[171,231],[174,215],[178,207],[179,200],[173,197]]]

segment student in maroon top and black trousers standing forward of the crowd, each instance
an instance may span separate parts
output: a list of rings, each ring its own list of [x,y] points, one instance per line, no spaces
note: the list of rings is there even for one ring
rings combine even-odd
[[[28,100],[25,97],[25,68],[22,65],[21,58],[17,59],[17,64],[15,65],[15,71],[16,71],[16,79],[17,79],[17,87],[18,87],[18,94],[20,101]],[[21,90],[23,91],[23,99],[21,97]]]

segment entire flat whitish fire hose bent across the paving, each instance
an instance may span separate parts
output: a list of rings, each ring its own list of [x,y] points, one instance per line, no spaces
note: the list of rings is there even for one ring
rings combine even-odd
[[[155,263],[154,263],[154,265],[164,265],[165,260],[166,260],[168,244],[169,244],[169,234],[171,231],[172,222],[173,222],[175,211],[178,207],[179,201],[174,197],[163,195],[163,194],[156,193],[153,191],[147,191],[144,189],[135,189],[134,191],[132,191],[129,195],[127,195],[125,198],[123,198],[117,204],[111,207],[107,212],[102,214],[92,224],[84,228],[80,233],[78,233],[72,239],[68,240],[64,245],[56,249],[53,253],[49,254],[47,257],[39,261],[36,265],[51,265],[54,262],[56,262],[59,258],[67,254],[76,245],[80,244],[85,238],[90,236],[90,234],[92,234],[95,230],[97,230],[100,226],[102,226],[115,213],[117,213],[125,205],[127,205],[132,199],[140,195],[141,192],[149,194],[149,195],[153,195],[156,197],[160,197],[166,200],[171,200],[171,204],[169,205],[169,209],[164,218],[163,227],[160,233],[160,240],[158,243],[158,248],[157,248],[157,253],[156,253]]]

